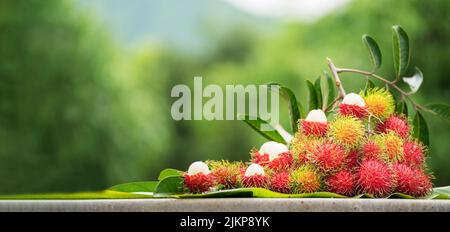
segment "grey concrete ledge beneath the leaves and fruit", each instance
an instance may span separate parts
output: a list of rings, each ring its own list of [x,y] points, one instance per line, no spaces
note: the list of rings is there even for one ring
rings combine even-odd
[[[215,198],[127,200],[1,200],[0,211],[26,212],[450,212],[450,200]]]

